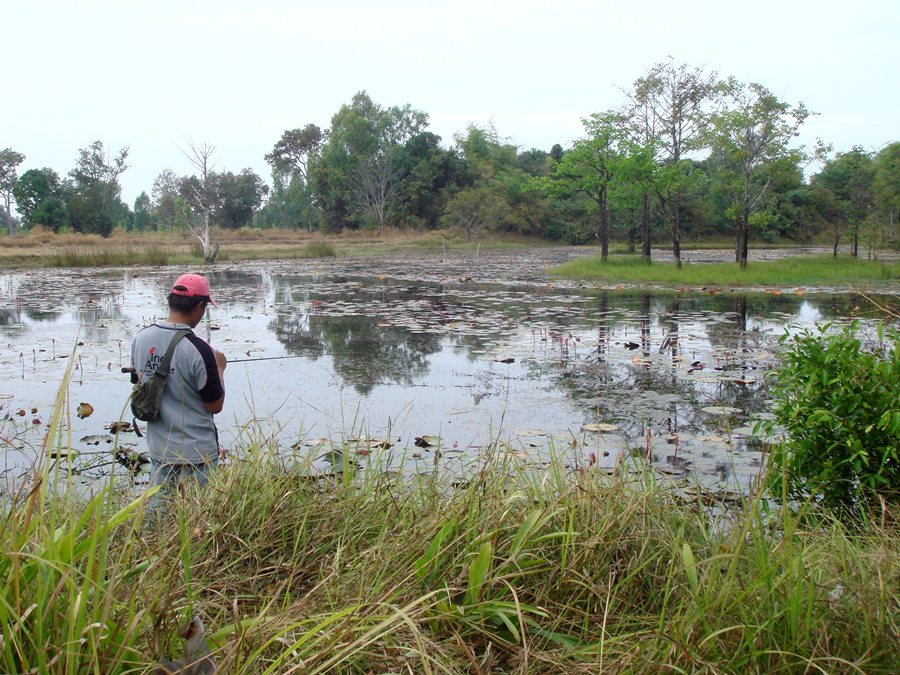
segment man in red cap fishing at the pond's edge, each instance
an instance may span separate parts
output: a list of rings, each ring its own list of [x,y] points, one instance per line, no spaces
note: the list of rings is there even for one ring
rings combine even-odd
[[[184,274],[169,293],[169,316],[135,337],[131,344],[132,381],[145,381],[159,365],[178,330],[194,328],[208,305],[216,306],[209,283],[199,274]],[[159,417],[147,423],[150,485],[167,490],[193,478],[204,485],[219,461],[219,437],[213,415],[225,403],[222,352],[188,333],[175,348],[160,403]]]

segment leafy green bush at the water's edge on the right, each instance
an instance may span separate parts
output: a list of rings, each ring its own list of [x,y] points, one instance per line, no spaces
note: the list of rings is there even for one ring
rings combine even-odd
[[[858,333],[826,325],[782,338],[776,416],[788,435],[771,481],[792,497],[852,508],[900,496],[900,335],[879,328],[864,344]]]

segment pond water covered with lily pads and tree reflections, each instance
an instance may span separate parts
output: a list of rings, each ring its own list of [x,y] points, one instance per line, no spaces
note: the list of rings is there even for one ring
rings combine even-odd
[[[658,471],[744,489],[764,444],[778,338],[865,318],[833,289],[774,293],[595,288],[551,280],[572,249],[220,264],[196,331],[231,360],[220,440],[276,438],[287,455],[347,447],[365,463],[465,474],[499,442],[573,470],[649,456]],[[0,471],[22,474],[66,368],[65,434],[87,477],[114,461],[132,335],[166,314],[176,269],[0,275]],[[93,413],[76,415],[80,403]],[[125,416],[130,421],[131,418]],[[118,445],[143,450],[121,432]],[[496,447],[496,445],[494,445]],[[321,464],[321,463],[320,463]]]

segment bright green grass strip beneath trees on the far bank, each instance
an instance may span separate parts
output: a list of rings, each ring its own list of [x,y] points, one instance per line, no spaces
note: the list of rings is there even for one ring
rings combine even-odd
[[[849,256],[796,256],[765,262],[751,262],[746,269],[737,263],[697,263],[682,265],[653,263],[640,258],[613,257],[572,260],[551,270],[551,274],[591,281],[668,284],[676,286],[804,286],[886,281],[900,277],[900,263],[859,260]]]

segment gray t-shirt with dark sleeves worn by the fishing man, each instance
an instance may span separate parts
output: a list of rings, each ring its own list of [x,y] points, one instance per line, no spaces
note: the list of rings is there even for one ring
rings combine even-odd
[[[131,343],[131,365],[143,382],[157,368],[169,343],[185,324],[157,321]],[[171,464],[203,464],[218,455],[213,414],[204,403],[225,393],[212,347],[193,333],[183,337],[172,355],[159,417],[147,423],[150,457]]]

